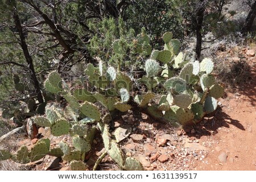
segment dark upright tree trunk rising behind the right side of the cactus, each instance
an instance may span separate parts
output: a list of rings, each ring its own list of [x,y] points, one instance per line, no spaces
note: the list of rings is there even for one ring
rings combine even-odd
[[[204,0],[200,0],[200,5],[196,13],[196,56],[197,59],[200,59],[201,56],[201,48],[202,48],[202,27],[204,21],[204,10],[205,10],[205,2]]]

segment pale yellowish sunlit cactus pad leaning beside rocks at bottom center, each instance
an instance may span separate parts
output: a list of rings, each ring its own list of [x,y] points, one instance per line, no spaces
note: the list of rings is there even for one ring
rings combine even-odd
[[[118,166],[123,166],[123,163],[125,163],[124,161],[124,157],[123,157],[123,152],[121,151],[121,149],[119,148],[118,144],[114,141],[111,142],[111,147],[110,150],[108,151],[108,154],[110,156],[110,158],[112,158],[117,164]]]

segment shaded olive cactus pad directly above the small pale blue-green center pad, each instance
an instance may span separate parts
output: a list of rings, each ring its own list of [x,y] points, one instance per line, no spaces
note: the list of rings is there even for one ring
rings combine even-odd
[[[119,90],[121,88],[126,88],[129,92],[132,89],[133,82],[131,78],[127,76],[125,73],[118,72],[117,77],[114,81],[115,89]]]

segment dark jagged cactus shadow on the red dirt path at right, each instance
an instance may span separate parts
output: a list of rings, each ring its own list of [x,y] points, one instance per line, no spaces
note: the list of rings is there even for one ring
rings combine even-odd
[[[213,116],[204,118],[204,121],[197,126],[185,128],[185,132],[188,137],[201,138],[203,136],[215,135],[218,133],[218,129],[221,127],[230,128],[230,125],[237,127],[237,129],[245,131],[245,127],[236,119],[232,119],[230,115],[224,113],[221,108],[218,108]],[[191,133],[191,129],[194,129],[196,133]]]

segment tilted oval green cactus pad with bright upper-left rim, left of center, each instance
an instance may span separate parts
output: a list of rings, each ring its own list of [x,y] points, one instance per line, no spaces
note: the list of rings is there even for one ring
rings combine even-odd
[[[90,102],[85,101],[84,104],[80,107],[82,114],[95,119],[95,121],[101,120],[101,113],[98,107]]]

